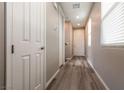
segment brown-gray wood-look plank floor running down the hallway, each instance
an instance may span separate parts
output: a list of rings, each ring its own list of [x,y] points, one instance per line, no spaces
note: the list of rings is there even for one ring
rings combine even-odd
[[[57,74],[48,90],[103,90],[102,85],[85,57],[73,57]]]

